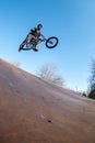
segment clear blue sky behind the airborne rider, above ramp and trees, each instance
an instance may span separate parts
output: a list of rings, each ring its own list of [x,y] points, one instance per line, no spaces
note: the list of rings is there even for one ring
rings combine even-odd
[[[29,30],[43,24],[41,33],[57,36],[54,50],[17,52]],[[45,63],[55,63],[74,90],[86,90],[95,55],[95,0],[0,0],[0,58],[20,62],[32,74]]]

